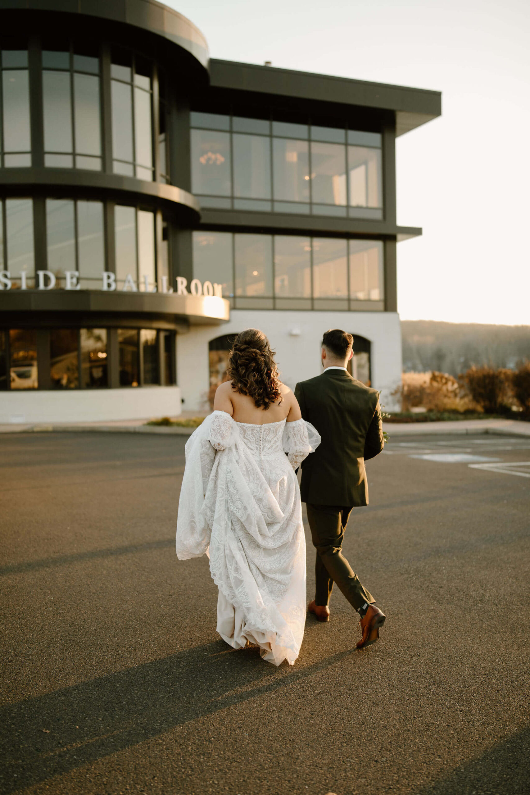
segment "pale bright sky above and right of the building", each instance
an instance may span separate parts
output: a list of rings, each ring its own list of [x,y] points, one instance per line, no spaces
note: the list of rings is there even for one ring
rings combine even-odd
[[[169,0],[211,56],[442,91],[397,139],[403,320],[530,324],[530,0]]]

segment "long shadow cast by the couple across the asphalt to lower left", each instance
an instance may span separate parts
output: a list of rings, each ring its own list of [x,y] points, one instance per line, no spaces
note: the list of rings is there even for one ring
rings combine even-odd
[[[317,629],[315,623],[308,619],[306,641]],[[257,649],[232,650],[219,639],[8,704],[0,712],[0,791],[37,784],[182,723],[288,686],[352,651],[306,665],[302,654],[294,666],[275,668],[261,660]]]

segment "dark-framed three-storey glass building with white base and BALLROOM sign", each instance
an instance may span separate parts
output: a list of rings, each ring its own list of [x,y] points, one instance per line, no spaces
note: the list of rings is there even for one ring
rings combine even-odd
[[[345,328],[389,405],[395,139],[438,92],[210,60],[153,0],[0,0],[0,72],[0,422],[205,409],[248,326],[291,386]]]

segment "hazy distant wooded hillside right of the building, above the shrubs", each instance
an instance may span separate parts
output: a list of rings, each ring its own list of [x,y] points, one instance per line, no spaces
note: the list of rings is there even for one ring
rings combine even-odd
[[[402,320],[403,371],[454,375],[470,367],[516,369],[530,361],[530,326]]]

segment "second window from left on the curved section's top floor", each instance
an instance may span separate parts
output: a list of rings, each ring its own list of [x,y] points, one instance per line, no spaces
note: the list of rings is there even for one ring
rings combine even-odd
[[[44,165],[100,171],[99,53],[68,42],[42,50]]]

